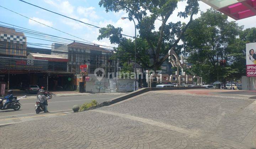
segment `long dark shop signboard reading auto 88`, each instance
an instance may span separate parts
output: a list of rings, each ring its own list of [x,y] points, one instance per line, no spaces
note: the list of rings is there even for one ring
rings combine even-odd
[[[11,57],[0,57],[0,68],[17,70],[48,70],[48,61],[34,59],[19,59]]]

